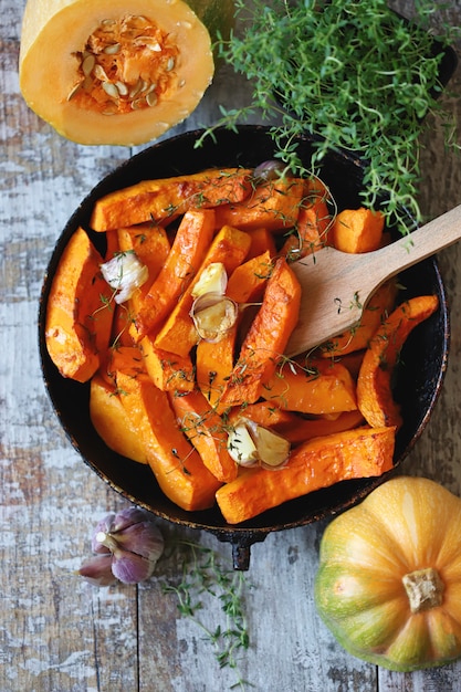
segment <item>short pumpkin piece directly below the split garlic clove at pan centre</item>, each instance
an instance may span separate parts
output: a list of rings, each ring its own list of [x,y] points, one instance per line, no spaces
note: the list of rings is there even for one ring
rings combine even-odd
[[[219,399],[232,373],[237,332],[235,323],[216,344],[205,340],[197,344],[197,385],[213,408],[218,408]]]

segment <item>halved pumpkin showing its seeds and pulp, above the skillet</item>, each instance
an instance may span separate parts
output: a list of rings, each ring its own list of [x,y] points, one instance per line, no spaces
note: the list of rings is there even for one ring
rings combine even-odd
[[[21,93],[73,141],[150,141],[199,104],[232,19],[233,0],[28,0]]]

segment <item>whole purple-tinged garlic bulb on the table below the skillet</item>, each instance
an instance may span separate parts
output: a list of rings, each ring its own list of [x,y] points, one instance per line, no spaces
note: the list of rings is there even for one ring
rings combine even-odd
[[[113,579],[138,584],[153,575],[164,551],[164,537],[148,512],[128,507],[117,514],[107,514],[97,523],[92,547],[95,557],[84,563],[80,570],[87,580],[97,584],[99,578],[99,586],[106,586],[109,564]],[[96,574],[98,568],[101,573]]]

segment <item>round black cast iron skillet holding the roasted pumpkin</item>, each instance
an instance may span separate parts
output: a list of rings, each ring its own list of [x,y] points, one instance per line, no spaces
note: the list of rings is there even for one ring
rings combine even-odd
[[[96,199],[148,178],[192,174],[208,167],[253,167],[273,157],[272,139],[268,128],[262,126],[242,126],[238,133],[219,129],[216,140],[208,137],[203,146],[196,149],[199,134],[191,132],[172,137],[134,156],[99,182],[73,213],[57,240],[44,277],[39,314],[40,354],[44,381],[56,416],[90,468],[124,497],[155,515],[175,524],[209,531],[220,541],[231,543],[234,568],[248,569],[253,543],[264,541],[270,532],[310,524],[353,506],[387,480],[392,471],[379,479],[337,483],[238,526],[228,525],[217,507],[186,512],[163,494],[149,468],[115,454],[104,444],[90,419],[88,385],[62,378],[48,355],[44,340],[50,285],[70,237],[82,226],[103,250],[102,234],[92,232],[88,227]],[[300,140],[304,161],[310,161],[312,147],[308,137]],[[344,153],[332,153],[325,158],[321,175],[329,185],[339,209],[359,206],[362,166],[357,159]],[[406,271],[400,283],[406,286],[406,297],[436,293],[440,310],[417,327],[402,353],[395,396],[401,402],[405,423],[397,436],[395,468],[402,463],[428,422],[441,388],[449,347],[447,300],[436,260],[427,260]]]

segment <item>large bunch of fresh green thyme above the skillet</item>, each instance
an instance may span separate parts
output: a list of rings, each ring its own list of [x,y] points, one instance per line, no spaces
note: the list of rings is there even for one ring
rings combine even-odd
[[[255,109],[277,118],[271,129],[276,156],[300,172],[306,171],[296,155],[297,135],[318,136],[312,161],[317,171],[328,149],[347,149],[365,162],[364,206],[380,205],[407,226],[408,213],[420,221],[425,118],[441,117],[447,141],[453,129],[438,101],[448,36],[436,43],[428,31],[434,7],[441,6],[416,1],[407,21],[385,0],[235,0],[241,35],[220,40],[218,48],[252,82],[252,103],[221,107],[216,126],[234,128]]]

